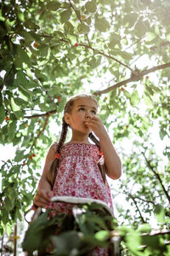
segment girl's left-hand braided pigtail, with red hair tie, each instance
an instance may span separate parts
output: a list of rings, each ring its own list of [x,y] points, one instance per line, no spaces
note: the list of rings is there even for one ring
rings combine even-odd
[[[61,136],[59,138],[59,143],[57,145],[55,154],[60,154],[61,148],[63,147],[63,144],[65,143],[67,131],[68,131],[68,125],[66,124],[65,119],[63,118]],[[58,167],[59,167],[59,159],[54,159],[54,161],[50,167],[50,170],[47,174],[48,182],[51,184],[52,188],[54,187],[54,181],[55,181]]]

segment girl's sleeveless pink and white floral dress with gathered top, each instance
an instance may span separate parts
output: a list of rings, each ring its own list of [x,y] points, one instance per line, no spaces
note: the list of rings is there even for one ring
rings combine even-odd
[[[57,143],[54,143],[56,151]],[[97,162],[99,148],[94,144],[67,143],[59,155],[59,168],[54,181],[54,196],[77,196],[104,201],[112,209],[111,189],[103,181]],[[73,205],[52,203],[51,214],[71,212]],[[106,248],[97,248],[90,255],[108,255]]]

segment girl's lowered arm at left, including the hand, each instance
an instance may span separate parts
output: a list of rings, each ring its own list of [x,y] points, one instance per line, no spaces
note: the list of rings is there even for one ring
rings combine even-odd
[[[53,191],[50,183],[47,180],[47,172],[54,161],[54,147],[49,148],[48,155],[45,160],[42,177],[38,183],[37,194],[35,195],[33,204],[37,207],[48,207],[50,198],[53,196]]]

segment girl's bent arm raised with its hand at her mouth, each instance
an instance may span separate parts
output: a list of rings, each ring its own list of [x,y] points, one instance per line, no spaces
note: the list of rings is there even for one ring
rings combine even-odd
[[[111,139],[105,130],[105,126],[98,117],[89,119],[85,125],[88,125],[95,135],[99,137],[100,148],[105,157],[106,174],[112,179],[117,179],[122,175],[122,163],[120,157],[116,153]]]

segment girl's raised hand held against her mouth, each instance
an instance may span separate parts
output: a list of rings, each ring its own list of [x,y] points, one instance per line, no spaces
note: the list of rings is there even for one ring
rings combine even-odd
[[[107,134],[107,131],[105,130],[105,126],[103,125],[102,121],[96,116],[90,119],[88,118],[85,121],[85,125],[87,125],[92,131],[94,131],[94,134],[99,138]]]

